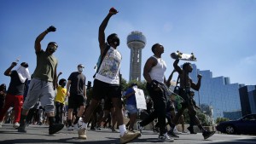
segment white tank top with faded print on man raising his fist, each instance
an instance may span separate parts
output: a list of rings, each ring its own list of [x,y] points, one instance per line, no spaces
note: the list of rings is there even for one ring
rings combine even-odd
[[[102,61],[102,66],[96,73],[96,79],[108,83],[119,84],[119,69],[122,55],[117,49],[110,47]]]

